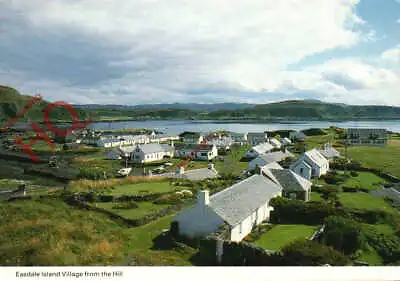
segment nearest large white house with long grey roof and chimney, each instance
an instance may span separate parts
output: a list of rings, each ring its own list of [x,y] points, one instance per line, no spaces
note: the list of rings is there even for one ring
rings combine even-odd
[[[179,233],[201,237],[229,226],[231,241],[239,242],[254,226],[268,221],[273,208],[272,198],[282,195],[282,187],[267,177],[256,174],[212,196],[201,190],[197,203],[180,212],[174,219]]]

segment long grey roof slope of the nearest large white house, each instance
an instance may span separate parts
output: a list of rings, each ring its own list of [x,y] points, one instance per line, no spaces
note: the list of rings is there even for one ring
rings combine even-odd
[[[210,197],[209,207],[231,226],[249,217],[282,188],[262,175],[253,175]]]

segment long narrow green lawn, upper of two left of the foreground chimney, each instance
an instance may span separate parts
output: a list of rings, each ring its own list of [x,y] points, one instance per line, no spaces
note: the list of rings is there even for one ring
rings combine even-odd
[[[139,195],[145,193],[164,193],[174,190],[176,190],[176,187],[171,185],[169,181],[152,181],[117,185],[109,190],[109,194],[113,196]]]

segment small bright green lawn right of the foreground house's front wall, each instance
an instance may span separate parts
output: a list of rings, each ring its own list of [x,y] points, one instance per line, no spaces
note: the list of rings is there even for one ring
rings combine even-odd
[[[264,233],[254,244],[270,251],[279,251],[297,239],[307,239],[317,229],[316,226],[302,224],[276,225]]]

